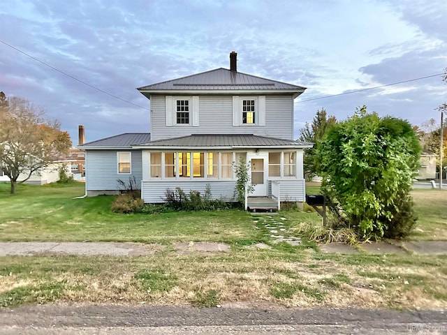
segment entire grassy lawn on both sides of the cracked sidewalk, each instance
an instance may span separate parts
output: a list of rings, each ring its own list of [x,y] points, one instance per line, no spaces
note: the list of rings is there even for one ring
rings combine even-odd
[[[113,197],[73,199],[83,184],[0,184],[1,241],[142,241],[154,250],[138,257],[67,255],[0,258],[0,306],[57,303],[192,304],[447,308],[447,257],[339,255],[316,245],[275,244],[266,224],[321,222],[316,213],[277,216],[240,210],[123,215]],[[317,188],[314,189],[318,191]],[[420,215],[411,239],[445,237],[447,192],[414,191]],[[215,241],[229,253],[177,253],[177,241]],[[270,249],[249,248],[256,242]]]

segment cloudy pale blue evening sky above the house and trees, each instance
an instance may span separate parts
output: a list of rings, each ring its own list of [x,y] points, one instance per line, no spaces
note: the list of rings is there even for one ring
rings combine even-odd
[[[76,145],[80,124],[87,142],[149,132],[137,87],[229,68],[235,51],[238,71],[307,87],[296,138],[322,107],[420,125],[447,101],[446,17],[446,0],[2,0],[0,91]]]

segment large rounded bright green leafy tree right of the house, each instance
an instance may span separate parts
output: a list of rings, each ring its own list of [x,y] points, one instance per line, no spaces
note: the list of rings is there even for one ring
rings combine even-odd
[[[413,228],[409,191],[420,144],[407,121],[363,106],[328,129],[316,155],[323,192],[340,203],[360,237],[402,237]]]

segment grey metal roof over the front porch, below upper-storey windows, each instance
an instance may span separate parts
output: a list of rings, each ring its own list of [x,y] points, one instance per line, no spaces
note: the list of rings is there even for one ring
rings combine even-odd
[[[196,134],[141,143],[134,147],[312,147],[313,143],[258,135]]]

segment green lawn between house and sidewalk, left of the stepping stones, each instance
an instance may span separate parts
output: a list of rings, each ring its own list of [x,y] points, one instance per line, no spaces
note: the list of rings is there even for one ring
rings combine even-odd
[[[233,242],[253,238],[247,212],[115,214],[113,196],[73,199],[83,184],[71,187],[21,186],[17,195],[0,191],[1,241],[173,241]],[[225,216],[225,220],[222,220]]]

